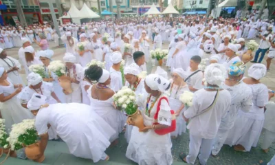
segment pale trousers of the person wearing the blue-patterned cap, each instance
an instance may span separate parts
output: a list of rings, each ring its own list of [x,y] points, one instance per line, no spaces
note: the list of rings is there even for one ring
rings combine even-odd
[[[223,147],[229,131],[228,129],[219,129],[212,146],[212,155],[218,155],[219,151],[221,151],[221,147]]]

